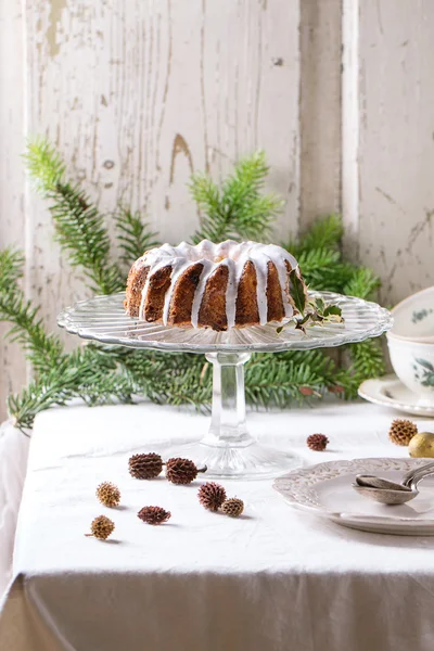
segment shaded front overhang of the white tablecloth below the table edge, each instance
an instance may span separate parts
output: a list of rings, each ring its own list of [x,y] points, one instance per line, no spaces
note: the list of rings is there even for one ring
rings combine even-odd
[[[106,573],[37,583],[15,579],[2,650],[433,648],[432,582],[406,574]]]

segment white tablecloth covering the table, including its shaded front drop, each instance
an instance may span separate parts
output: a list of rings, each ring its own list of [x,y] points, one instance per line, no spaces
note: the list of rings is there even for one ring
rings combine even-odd
[[[306,461],[404,456],[371,405],[250,414],[251,430]],[[432,423],[417,421],[423,429]],[[345,529],[289,508],[270,481],[224,482],[246,503],[202,509],[200,482],[128,474],[131,452],[199,436],[205,417],[153,405],[72,407],[38,417],[20,512],[0,651],[433,651],[434,539]],[[305,439],[326,433],[326,452]],[[118,484],[123,508],[94,498]],[[161,505],[164,526],[137,511]],[[84,536],[105,512],[113,539]]]

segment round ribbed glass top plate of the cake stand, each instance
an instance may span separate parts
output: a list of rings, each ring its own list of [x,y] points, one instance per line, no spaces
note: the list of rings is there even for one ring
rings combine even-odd
[[[58,318],[59,326],[82,339],[106,344],[120,344],[131,348],[156,348],[186,353],[213,353],[225,350],[279,352],[341,346],[379,336],[392,328],[391,314],[376,305],[332,292],[309,292],[328,305],[339,305],[344,323],[311,326],[306,334],[289,324],[281,333],[279,323],[215,332],[210,329],[184,329],[132,319],[125,314],[125,294],[97,296],[67,307]]]

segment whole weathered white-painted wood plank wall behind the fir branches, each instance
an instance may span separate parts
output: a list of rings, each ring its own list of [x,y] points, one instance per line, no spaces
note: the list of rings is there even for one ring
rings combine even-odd
[[[432,0],[0,0],[0,246],[25,251],[48,327],[86,290],[25,180],[38,133],[171,241],[197,222],[191,171],[263,146],[279,237],[341,210],[384,302],[432,284],[433,30]],[[25,379],[0,343],[0,417]]]

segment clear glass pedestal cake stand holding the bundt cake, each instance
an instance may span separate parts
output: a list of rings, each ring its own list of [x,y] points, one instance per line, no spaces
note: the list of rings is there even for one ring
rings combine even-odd
[[[133,319],[125,314],[124,297],[122,293],[76,303],[59,316],[59,326],[82,339],[104,344],[205,354],[214,371],[209,431],[200,442],[178,445],[162,454],[187,457],[197,467],[207,465],[209,477],[273,477],[301,464],[295,455],[261,445],[248,433],[244,363],[252,353],[341,346],[379,336],[393,323],[390,312],[375,303],[331,292],[309,292],[309,297],[321,297],[328,305],[337,305],[344,323],[315,324],[306,334],[291,324],[278,333],[279,323],[215,332]]]

